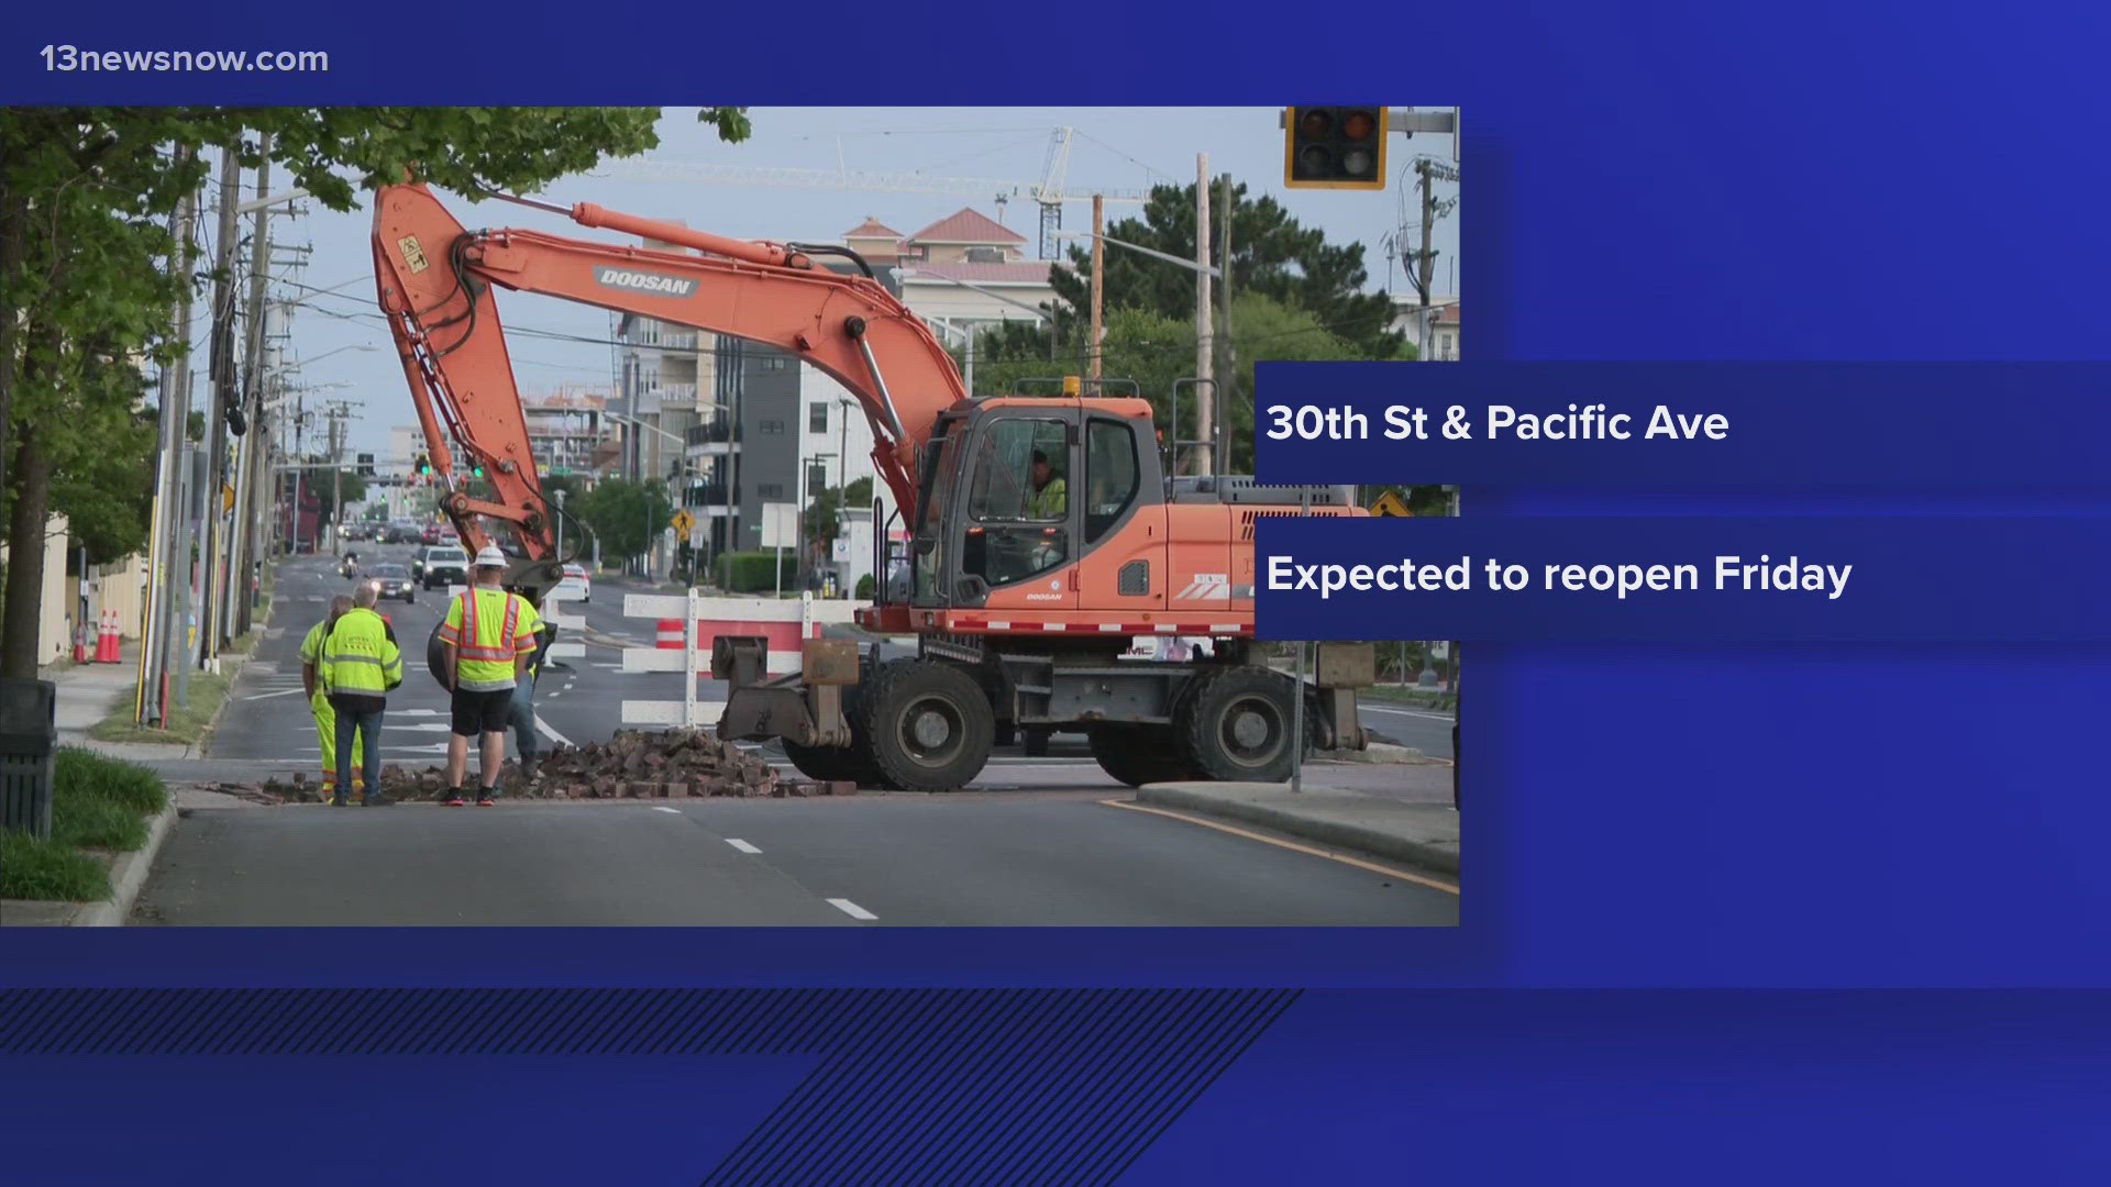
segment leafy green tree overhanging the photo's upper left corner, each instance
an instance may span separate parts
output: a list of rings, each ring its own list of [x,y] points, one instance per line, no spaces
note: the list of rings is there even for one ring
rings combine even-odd
[[[0,490],[15,494],[8,532],[40,536],[59,498],[87,498],[91,484],[53,482],[72,463],[93,456],[152,473],[150,437],[141,441],[112,420],[135,412],[137,389],[110,376],[184,355],[171,310],[177,296],[196,294],[209,262],[177,275],[167,220],[205,180],[211,148],[232,148],[243,165],[255,165],[260,133],[270,133],[281,175],[344,211],[361,188],[403,177],[471,196],[536,190],[602,156],[654,148],[657,118],[654,108],[0,110]],[[739,108],[707,108],[699,118],[724,139],[747,135]],[[82,511],[101,522],[110,509]],[[110,539],[118,536],[112,530]],[[32,676],[36,663],[42,551],[21,553],[8,566],[0,610],[6,676]]]

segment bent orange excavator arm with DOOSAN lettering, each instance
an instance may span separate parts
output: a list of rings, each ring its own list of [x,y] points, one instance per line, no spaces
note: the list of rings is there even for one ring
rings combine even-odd
[[[519,201],[519,199],[515,199]],[[467,547],[488,543],[479,515],[515,526],[530,562],[555,558],[551,509],[528,444],[492,287],[547,294],[777,346],[849,389],[872,422],[872,460],[895,505],[916,501],[918,450],[939,412],[967,395],[931,329],[870,277],[813,266],[830,247],[749,243],[606,211],[549,207],[690,251],[566,239],[540,230],[464,230],[418,184],[374,203],[374,279],[395,334],[441,507]],[[853,258],[855,260],[855,258]],[[473,498],[456,460],[481,465],[492,498]],[[555,568],[532,564],[532,568]],[[555,581],[555,574],[549,574]]]

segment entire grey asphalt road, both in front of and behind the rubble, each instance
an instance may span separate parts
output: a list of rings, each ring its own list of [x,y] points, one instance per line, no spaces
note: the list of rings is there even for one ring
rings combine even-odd
[[[365,564],[405,547],[361,547]],[[300,636],[346,589],[327,558],[279,568],[277,623],[234,686],[215,762],[317,769],[300,695]],[[676,674],[621,672],[650,623],[623,617],[597,583],[568,613],[587,619],[587,659],[545,678],[543,733],[606,739],[623,699],[678,699]],[[445,695],[422,670],[441,594],[384,604],[407,655],[391,697],[384,760],[445,754]],[[576,640],[578,632],[568,638]],[[705,682],[709,686],[709,682]],[[722,697],[722,693],[718,693]],[[707,693],[709,697],[709,693]],[[1404,716],[1381,733],[1410,746]],[[779,758],[764,750],[764,756]],[[1442,798],[1448,781],[1402,790],[1402,767],[1315,765],[1330,786]],[[1429,771],[1429,769],[1419,769]],[[139,923],[173,925],[1452,925],[1459,896],[1387,864],[1319,855],[1264,830],[1123,807],[1083,739],[1045,758],[992,758],[950,796],[859,794],[785,800],[397,805],[384,811],[194,809],[177,822],[141,898]]]

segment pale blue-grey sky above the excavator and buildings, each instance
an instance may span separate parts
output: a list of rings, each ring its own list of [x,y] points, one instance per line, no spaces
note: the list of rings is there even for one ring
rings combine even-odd
[[[659,125],[661,146],[648,158],[885,169],[1030,184],[1043,173],[1053,129],[1072,127],[1077,135],[1068,192],[1191,184],[1195,154],[1207,152],[1212,177],[1231,173],[1250,192],[1273,194],[1302,224],[1326,230],[1330,241],[1362,243],[1372,291],[1410,289],[1400,262],[1389,266],[1381,247],[1389,234],[1402,228],[1412,234],[1419,226],[1408,184],[1412,177],[1406,173],[1410,161],[1416,154],[1452,158],[1448,135],[1395,135],[1387,148],[1387,190],[1286,190],[1277,108],[754,108],[749,118],[754,133],[747,142],[722,144],[716,129],[697,123],[692,108],[669,108]],[[1457,186],[1438,186],[1440,199],[1454,192]],[[1028,258],[1039,245],[1039,211],[1030,201],[1011,201],[1001,209],[994,201],[958,194],[648,182],[621,173],[564,177],[538,196],[562,205],[591,201],[739,239],[773,241],[840,239],[866,215],[910,234],[971,205],[990,218],[1003,215],[1005,226],[1024,234]],[[581,239],[619,239],[509,203],[471,205],[452,194],[443,201],[471,230],[521,226]],[[304,298],[289,325],[285,357],[302,361],[300,382],[325,389],[317,393],[319,399],[346,399],[355,406],[348,452],[384,452],[388,427],[414,425],[416,414],[374,304],[372,209],[334,213],[315,203],[296,209],[291,220],[272,220],[277,245],[308,247],[306,264],[274,270],[274,279],[283,281],[277,285],[279,296]],[[1106,220],[1117,222],[1138,209],[1110,203]],[[1457,294],[1463,285],[1459,222],[1465,213],[1461,205],[1438,224],[1440,294]],[[1089,224],[1089,199],[1064,209],[1066,230]],[[502,294],[500,300],[524,393],[610,382],[606,310],[526,294]],[[203,351],[194,357],[203,359]]]

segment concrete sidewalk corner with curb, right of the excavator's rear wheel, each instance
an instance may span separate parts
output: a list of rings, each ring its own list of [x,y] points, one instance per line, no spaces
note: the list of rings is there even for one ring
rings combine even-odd
[[[1459,813],[1446,803],[1305,784],[1148,784],[1138,803],[1243,819],[1319,845],[1459,877]]]

